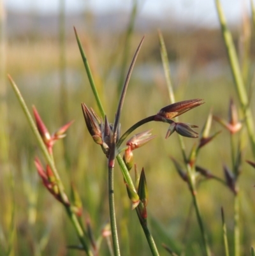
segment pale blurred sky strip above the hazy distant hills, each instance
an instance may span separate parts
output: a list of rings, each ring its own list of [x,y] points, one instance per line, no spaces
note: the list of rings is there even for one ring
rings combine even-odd
[[[3,0],[8,10],[57,13],[61,0]],[[65,0],[66,11],[89,10],[105,13],[112,10],[130,11],[134,0]],[[255,2],[255,0],[252,0]],[[138,0],[139,14],[161,19],[175,18],[198,26],[218,26],[215,0]],[[251,13],[251,0],[221,0],[228,22],[238,24],[244,10]]]

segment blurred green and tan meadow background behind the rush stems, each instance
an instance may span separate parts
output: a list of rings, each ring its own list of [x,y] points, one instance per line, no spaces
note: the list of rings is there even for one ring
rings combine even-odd
[[[221,31],[219,26],[180,22],[175,20],[174,14],[172,19],[160,22],[144,17],[140,15],[143,6],[139,1],[133,1],[126,12],[105,16],[86,9],[78,14],[68,13],[64,1],[59,2],[58,12],[50,15],[41,15],[33,8],[27,12],[11,11],[2,4],[0,255],[7,255],[8,248],[11,248],[10,255],[82,255],[82,252],[66,247],[77,245],[78,239],[63,207],[42,186],[37,175],[34,157],[43,157],[6,74],[13,77],[27,105],[36,106],[50,132],[75,120],[67,137],[54,147],[55,162],[66,190],[69,192],[70,182],[77,187],[83,202],[84,220],[89,216],[94,236],[99,237],[109,221],[106,158],[85,127],[80,103],[85,102],[98,114],[99,111],[73,26],[77,28],[110,121],[115,116],[119,87],[123,84],[121,74],[123,72],[125,77],[136,47],[145,34],[120,120],[122,133],[136,121],[156,114],[170,104],[157,29],[161,29],[166,43],[176,100],[203,98],[206,102],[181,116],[180,121],[197,124],[200,131],[210,110],[217,116],[228,118],[230,98],[237,105],[238,100]],[[232,24],[231,32],[252,99],[254,27],[251,14],[245,10],[240,9],[242,20]],[[251,100],[251,107],[254,110],[254,100]],[[176,250],[186,246],[186,255],[202,255],[201,234],[189,189],[170,160],[170,156],[182,160],[177,135],[165,140],[167,124],[149,123],[145,126],[138,132],[153,128],[152,133],[157,137],[135,151],[135,162],[139,170],[145,169],[149,187],[149,225],[159,252],[167,254],[161,247],[161,243],[165,243]],[[212,133],[217,130],[222,128],[213,122]],[[254,161],[245,129],[240,132],[240,137],[244,144],[244,160]],[[197,139],[184,141],[187,154],[198,142]],[[229,134],[222,130],[203,148],[198,165],[224,179],[222,165],[231,166],[230,152]],[[255,245],[254,184],[254,169],[244,162],[239,185],[242,255],[248,255],[251,246]],[[214,180],[201,183],[198,192],[214,255],[224,253],[221,206],[224,207],[230,252],[233,253],[232,193]],[[118,167],[115,168],[115,196],[122,255],[150,255],[136,213],[131,211]],[[99,255],[110,255],[105,240]]]

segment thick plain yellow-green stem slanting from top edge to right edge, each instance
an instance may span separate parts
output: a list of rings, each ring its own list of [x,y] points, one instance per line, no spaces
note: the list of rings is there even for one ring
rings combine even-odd
[[[233,38],[231,36],[228,27],[226,26],[226,19],[224,17],[224,13],[222,10],[222,6],[219,0],[215,0],[217,11],[219,15],[219,20],[221,22],[221,30],[224,38],[224,43],[226,45],[226,50],[228,52],[228,59],[230,61],[231,71],[233,75],[233,79],[235,82],[235,87],[237,89],[237,94],[240,100],[240,104],[242,106],[242,110],[245,116],[245,123],[247,126],[247,131],[249,134],[252,153],[255,157],[255,134],[254,134],[254,124],[252,118],[251,108],[249,107],[249,100],[247,97],[247,92],[245,90],[244,80],[242,78],[242,72],[240,69],[240,65],[238,63],[237,52],[235,50],[235,45],[233,43]]]

